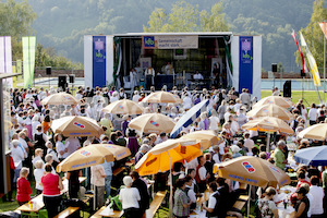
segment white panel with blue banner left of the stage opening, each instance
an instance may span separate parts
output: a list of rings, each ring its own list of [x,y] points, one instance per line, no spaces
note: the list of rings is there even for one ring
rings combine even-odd
[[[113,82],[113,36],[84,36],[86,87],[104,87]]]

